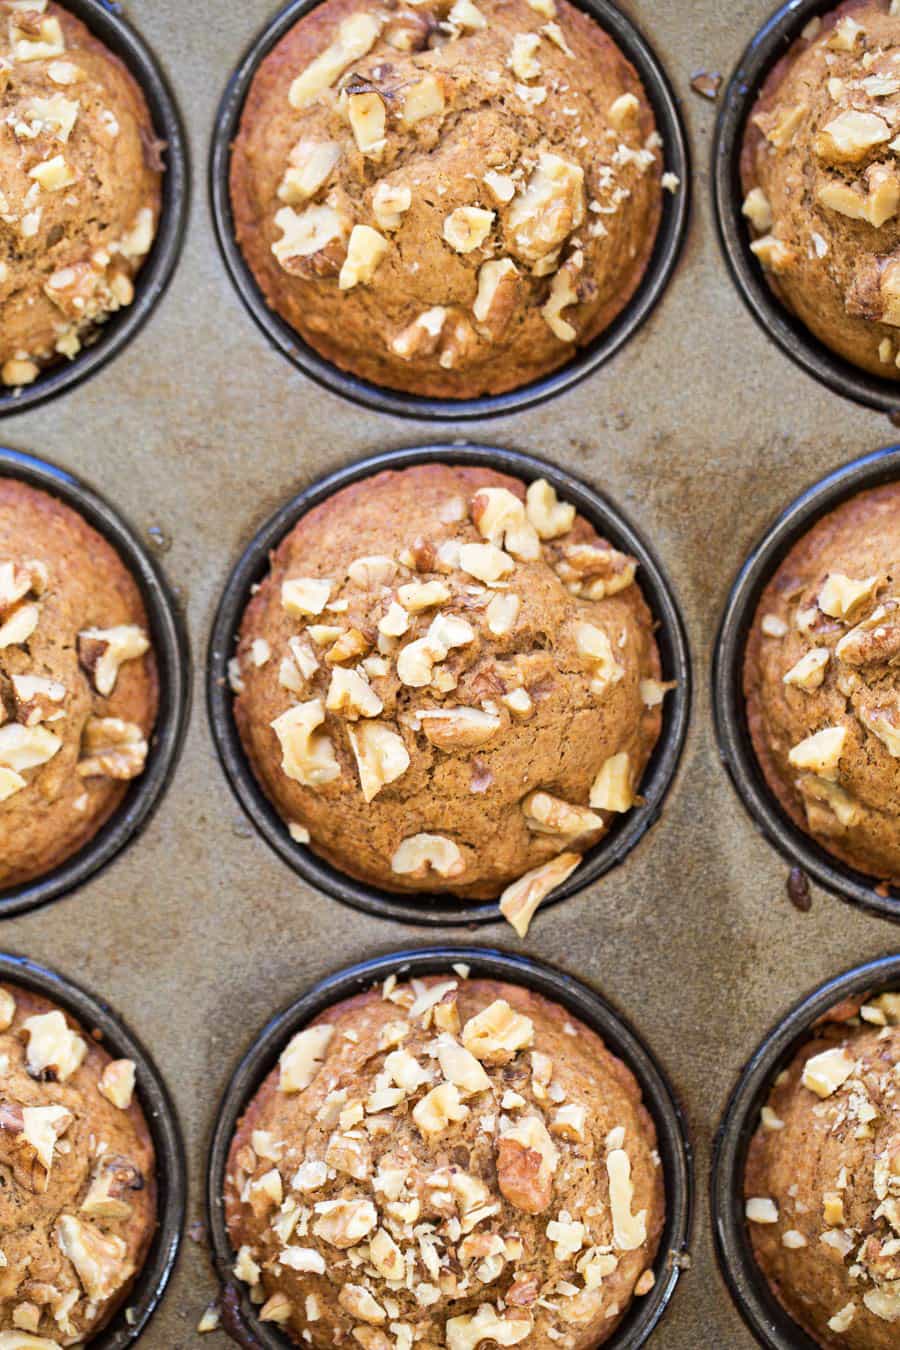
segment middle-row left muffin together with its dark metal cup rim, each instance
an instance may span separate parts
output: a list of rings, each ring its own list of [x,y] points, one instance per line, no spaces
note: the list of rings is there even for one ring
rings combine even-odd
[[[0,451],[0,914],[70,890],[146,824],[181,745],[167,586],[70,475]]]

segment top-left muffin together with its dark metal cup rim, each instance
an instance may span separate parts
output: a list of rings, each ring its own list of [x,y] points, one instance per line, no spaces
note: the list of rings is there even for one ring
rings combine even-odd
[[[174,104],[113,7],[7,5],[0,61],[1,414],[72,387],[138,332],[188,198]]]

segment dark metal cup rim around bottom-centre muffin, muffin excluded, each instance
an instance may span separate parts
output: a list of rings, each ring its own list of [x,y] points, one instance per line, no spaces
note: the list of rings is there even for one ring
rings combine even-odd
[[[444,975],[451,972],[453,964],[460,963],[470,967],[472,979],[521,984],[560,1003],[596,1031],[607,1049],[634,1073],[658,1135],[667,1215],[653,1264],[656,1284],[645,1297],[633,1300],[619,1328],[603,1345],[609,1350],[637,1350],[660,1322],[675,1293],[681,1269],[688,1264],[683,1257],[691,1238],[694,1210],[694,1168],[687,1125],[663,1069],[637,1033],[606,999],[563,971],[491,948],[434,946],[379,956],[320,980],[263,1027],[225,1089],[209,1146],[206,1207],[213,1264],[225,1291],[232,1322],[228,1330],[235,1339],[240,1339],[240,1343],[254,1346],[255,1350],[286,1350],[286,1347],[289,1350],[294,1345],[273,1323],[259,1320],[244,1287],[236,1284],[232,1273],[235,1253],[225,1227],[223,1203],[225,1168],[237,1120],[250,1099],[277,1064],[290,1037],[320,1013],[341,999],[372,988],[389,975],[395,975],[398,980]]]

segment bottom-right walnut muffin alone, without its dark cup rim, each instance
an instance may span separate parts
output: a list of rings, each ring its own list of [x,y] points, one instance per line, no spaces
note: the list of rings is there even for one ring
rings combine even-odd
[[[896,1350],[900,996],[835,1010],[780,1075],[746,1166],[753,1251],[822,1346]],[[849,1021],[847,1021],[849,1019]]]

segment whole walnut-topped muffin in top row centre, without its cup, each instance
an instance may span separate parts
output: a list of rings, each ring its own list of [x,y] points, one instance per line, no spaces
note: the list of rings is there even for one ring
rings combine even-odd
[[[627,304],[660,144],[633,66],[567,0],[327,0],[251,85],[237,243],[269,305],[341,369],[497,394]]]

